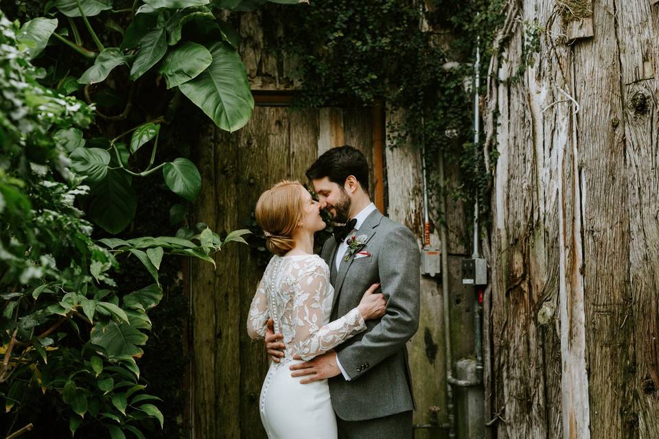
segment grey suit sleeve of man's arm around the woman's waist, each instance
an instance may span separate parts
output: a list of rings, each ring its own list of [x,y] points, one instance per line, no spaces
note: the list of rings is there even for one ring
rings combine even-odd
[[[419,327],[421,254],[406,227],[391,230],[378,256],[378,273],[386,297],[386,314],[361,340],[338,352],[351,381],[404,347]]]

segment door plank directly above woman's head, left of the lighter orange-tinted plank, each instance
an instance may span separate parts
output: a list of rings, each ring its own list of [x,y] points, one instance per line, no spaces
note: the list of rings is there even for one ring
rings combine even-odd
[[[288,111],[290,177],[307,182],[305,171],[318,158],[319,112],[314,108]]]

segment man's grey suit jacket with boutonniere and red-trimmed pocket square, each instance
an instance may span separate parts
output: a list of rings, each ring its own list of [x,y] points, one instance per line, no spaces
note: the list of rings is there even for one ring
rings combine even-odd
[[[364,292],[380,282],[386,314],[367,320],[367,330],[336,348],[343,375],[329,379],[334,412],[344,420],[380,418],[415,408],[406,342],[419,326],[420,253],[408,228],[373,211],[356,235],[367,235],[360,251],[370,257],[334,266],[336,241],[325,241],[321,257],[329,265],[334,286],[332,318],[359,304]],[[342,255],[338,255],[342,257]]]

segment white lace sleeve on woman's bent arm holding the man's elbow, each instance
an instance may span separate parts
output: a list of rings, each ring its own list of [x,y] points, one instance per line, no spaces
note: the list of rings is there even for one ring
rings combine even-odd
[[[294,305],[294,342],[297,354],[304,360],[325,353],[366,329],[357,308],[323,326],[323,302],[331,300],[329,292],[327,265],[318,265],[312,272],[301,276]]]

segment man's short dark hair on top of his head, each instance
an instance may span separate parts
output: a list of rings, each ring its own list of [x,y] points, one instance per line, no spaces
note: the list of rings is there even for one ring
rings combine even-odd
[[[329,181],[343,188],[345,180],[354,176],[365,192],[369,191],[369,164],[366,157],[356,147],[343,145],[332,148],[321,155],[307,169],[309,180],[327,177]]]

